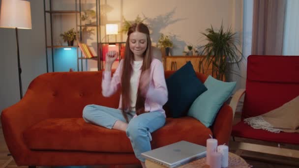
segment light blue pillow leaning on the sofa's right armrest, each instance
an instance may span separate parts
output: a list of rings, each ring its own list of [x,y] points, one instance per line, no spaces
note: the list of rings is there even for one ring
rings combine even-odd
[[[223,82],[209,76],[204,84],[208,90],[195,99],[187,115],[209,127],[223,103],[231,96],[236,82]]]

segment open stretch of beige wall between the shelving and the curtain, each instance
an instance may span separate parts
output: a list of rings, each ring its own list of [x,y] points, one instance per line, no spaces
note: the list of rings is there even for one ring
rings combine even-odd
[[[201,46],[206,28],[229,26],[236,32],[242,28],[241,0],[101,0],[101,36],[105,36],[105,24],[119,24],[122,17],[133,21],[137,15],[147,18],[152,42],[161,33],[170,35],[174,41],[172,55],[181,56],[186,45]],[[125,41],[126,35],[118,35]]]

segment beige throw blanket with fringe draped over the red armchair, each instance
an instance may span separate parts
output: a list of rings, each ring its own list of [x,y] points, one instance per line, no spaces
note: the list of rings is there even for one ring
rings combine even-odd
[[[244,122],[255,129],[273,133],[299,133],[299,96],[270,112],[245,118]]]

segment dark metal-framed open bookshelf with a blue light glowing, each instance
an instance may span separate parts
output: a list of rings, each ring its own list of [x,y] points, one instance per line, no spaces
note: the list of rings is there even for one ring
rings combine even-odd
[[[70,68],[77,71],[89,70],[89,64],[101,69],[99,57],[99,4],[100,0],[44,0],[45,51],[47,57],[47,72],[68,71]],[[90,24],[82,22],[84,11],[92,9],[95,18]],[[73,45],[62,42],[60,34],[74,28],[77,37]],[[86,30],[89,30],[86,31]],[[91,32],[92,31],[92,32]],[[93,36],[87,39],[87,34]],[[84,57],[79,48],[79,42],[88,44],[93,57]],[[71,62],[71,63],[70,63]],[[96,65],[95,65],[96,64]]]

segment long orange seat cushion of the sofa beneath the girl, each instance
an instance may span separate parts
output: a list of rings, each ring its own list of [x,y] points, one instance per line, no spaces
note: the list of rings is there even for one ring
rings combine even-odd
[[[196,134],[188,134],[197,131]],[[152,133],[152,148],[180,140],[206,145],[210,129],[192,117],[167,118],[161,129]],[[33,150],[68,150],[133,153],[125,132],[86,123],[83,118],[53,118],[43,120],[23,133]]]

